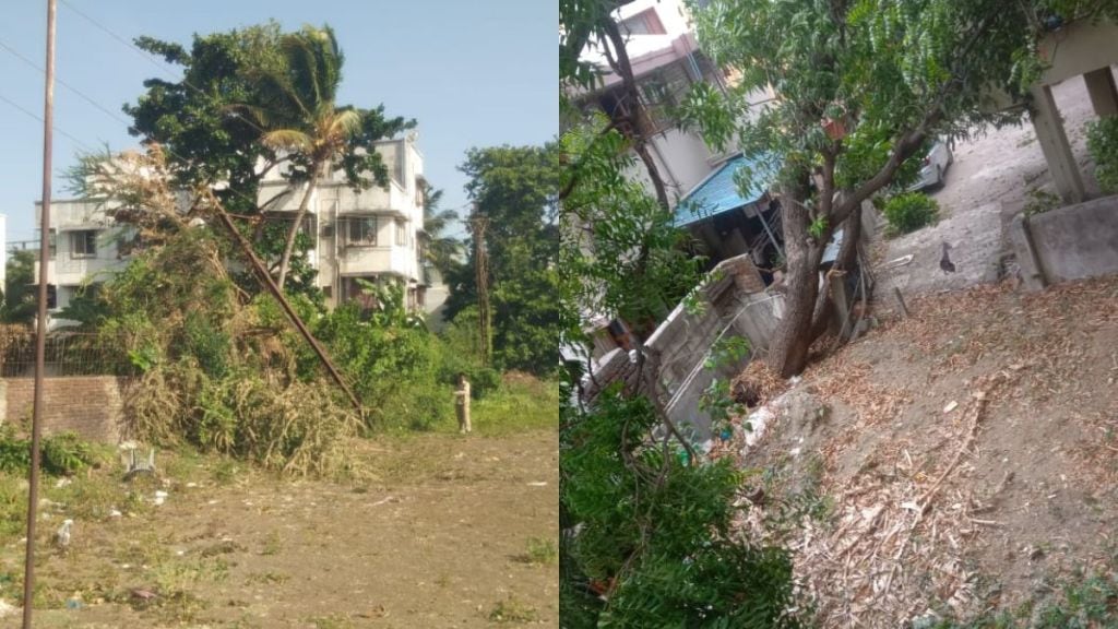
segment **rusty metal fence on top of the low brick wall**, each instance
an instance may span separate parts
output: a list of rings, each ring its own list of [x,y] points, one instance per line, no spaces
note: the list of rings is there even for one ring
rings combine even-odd
[[[45,373],[48,376],[127,376],[136,368],[123,344],[102,335],[57,331],[47,335]],[[35,376],[35,332],[0,328],[0,377]]]

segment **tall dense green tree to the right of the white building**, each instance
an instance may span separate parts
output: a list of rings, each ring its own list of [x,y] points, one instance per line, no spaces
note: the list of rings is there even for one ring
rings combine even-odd
[[[459,169],[487,219],[484,247],[491,288],[493,353],[503,368],[548,374],[559,364],[559,152],[543,147],[471,149]],[[447,319],[477,303],[476,247],[452,271]]]

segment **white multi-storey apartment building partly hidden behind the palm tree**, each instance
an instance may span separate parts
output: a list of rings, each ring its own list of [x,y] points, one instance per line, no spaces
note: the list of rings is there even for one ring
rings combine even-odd
[[[415,134],[378,142],[377,151],[388,167],[387,189],[354,191],[344,175],[335,172],[320,180],[311,195],[303,229],[314,235],[307,255],[318,270],[318,287],[333,307],[361,299],[359,279],[373,283],[395,279],[406,287],[409,309],[434,311],[440,303],[429,302],[426,294],[430,273],[424,260],[423,153]],[[272,218],[294,219],[304,190],[292,189],[278,173],[269,172],[258,200]],[[83,284],[104,281],[127,264],[126,238],[120,237],[121,227],[106,214],[112,206],[106,199],[51,201],[47,276],[53,312],[65,308]],[[37,204],[37,219],[41,210]]]

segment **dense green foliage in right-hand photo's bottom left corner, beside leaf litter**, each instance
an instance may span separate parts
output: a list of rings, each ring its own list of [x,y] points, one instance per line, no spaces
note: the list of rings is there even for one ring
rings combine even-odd
[[[616,578],[599,626],[797,627],[788,556],[731,534],[740,473],[685,466],[651,440],[657,422],[646,398],[607,393],[560,443],[571,553],[586,578]]]

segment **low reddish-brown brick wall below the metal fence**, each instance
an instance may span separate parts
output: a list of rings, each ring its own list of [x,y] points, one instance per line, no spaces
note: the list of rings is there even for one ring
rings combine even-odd
[[[44,434],[74,431],[89,441],[120,441],[127,378],[55,376],[44,383]],[[35,378],[0,379],[0,424],[29,425],[34,401]]]

